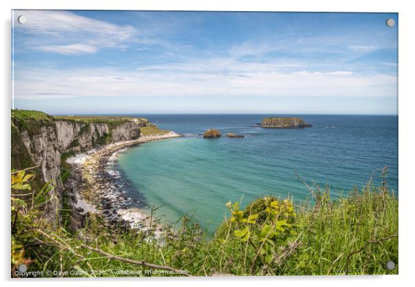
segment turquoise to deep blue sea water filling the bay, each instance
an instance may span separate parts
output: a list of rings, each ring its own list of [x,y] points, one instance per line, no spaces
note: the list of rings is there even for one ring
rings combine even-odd
[[[388,166],[387,183],[398,192],[397,116],[303,115],[312,128],[255,126],[265,116],[145,115],[185,137],[130,148],[119,156],[117,169],[132,184],[132,197],[162,206],[156,215],[163,221],[174,223],[191,212],[210,231],[220,224],[229,200],[247,204],[270,194],[309,198],[296,174],[309,184],[330,185],[337,197]],[[203,139],[200,134],[209,128],[245,138]]]

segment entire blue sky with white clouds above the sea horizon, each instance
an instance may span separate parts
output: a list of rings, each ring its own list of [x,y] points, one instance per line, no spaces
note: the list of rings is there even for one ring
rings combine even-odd
[[[396,13],[14,10],[12,108],[397,115],[397,58]]]

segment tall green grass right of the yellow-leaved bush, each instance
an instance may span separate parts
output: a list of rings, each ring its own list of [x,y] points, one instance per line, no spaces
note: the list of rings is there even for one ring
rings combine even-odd
[[[350,196],[334,201],[326,191],[319,206],[299,209],[297,224],[302,246],[298,257],[287,261],[284,273],[398,272],[397,267],[385,268],[388,261],[398,263],[398,199],[382,187],[354,189]]]

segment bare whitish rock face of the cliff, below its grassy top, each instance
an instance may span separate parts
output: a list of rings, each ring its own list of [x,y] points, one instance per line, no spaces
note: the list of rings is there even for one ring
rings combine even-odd
[[[52,181],[54,188],[51,192],[57,196],[54,202],[57,207],[60,191],[63,190],[60,179],[63,155],[74,155],[107,143],[137,139],[140,137],[140,128],[146,124],[146,119],[107,123],[54,119],[35,131],[14,127],[21,135],[34,166],[40,166],[43,181]]]

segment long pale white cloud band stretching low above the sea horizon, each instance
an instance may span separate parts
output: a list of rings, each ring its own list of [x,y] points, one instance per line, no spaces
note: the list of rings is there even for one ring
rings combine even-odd
[[[188,63],[145,66],[137,70],[26,69],[15,79],[14,97],[396,96],[397,79],[393,75],[360,75],[336,70],[281,72],[279,64],[199,59]]]

